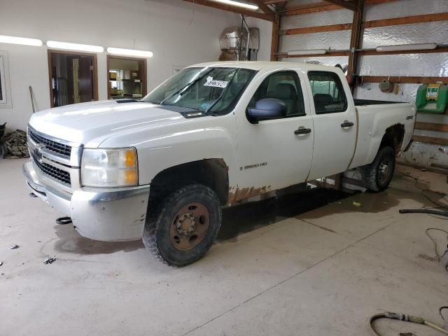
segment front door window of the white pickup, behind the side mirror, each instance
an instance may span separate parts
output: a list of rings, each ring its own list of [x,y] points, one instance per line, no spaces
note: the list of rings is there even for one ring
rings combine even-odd
[[[265,98],[280,99],[286,104],[284,118],[305,114],[302,87],[294,71],[280,71],[265,78],[253,94],[248,107],[254,108],[256,102]]]

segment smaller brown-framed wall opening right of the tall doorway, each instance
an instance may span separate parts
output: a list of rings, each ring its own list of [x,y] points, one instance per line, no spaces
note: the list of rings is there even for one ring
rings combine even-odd
[[[146,96],[146,59],[107,55],[108,99]]]

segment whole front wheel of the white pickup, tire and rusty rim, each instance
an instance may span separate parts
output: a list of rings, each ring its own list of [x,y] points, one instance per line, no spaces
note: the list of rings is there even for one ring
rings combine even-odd
[[[148,215],[144,245],[168,265],[184,266],[202,258],[221,227],[218,197],[200,184],[176,190]]]

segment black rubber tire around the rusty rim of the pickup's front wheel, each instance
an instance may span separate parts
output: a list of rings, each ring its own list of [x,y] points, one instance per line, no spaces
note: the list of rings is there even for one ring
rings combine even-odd
[[[208,210],[208,229],[202,240],[188,251],[174,247],[170,238],[170,226],[178,211],[195,202]],[[151,204],[150,204],[151,208]],[[149,211],[142,240],[146,249],[159,261],[167,265],[185,266],[202,258],[213,244],[221,228],[221,204],[218,196],[207,186],[193,184],[179,188],[160,201],[158,207]]]

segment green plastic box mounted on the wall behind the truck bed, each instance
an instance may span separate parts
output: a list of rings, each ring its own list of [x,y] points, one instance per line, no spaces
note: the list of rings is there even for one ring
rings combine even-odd
[[[428,90],[429,86],[429,90]],[[419,113],[445,113],[448,107],[448,85],[423,84],[417,90],[415,106]]]

